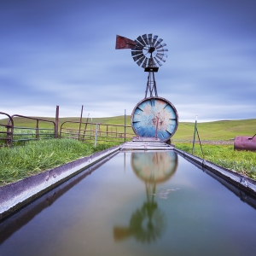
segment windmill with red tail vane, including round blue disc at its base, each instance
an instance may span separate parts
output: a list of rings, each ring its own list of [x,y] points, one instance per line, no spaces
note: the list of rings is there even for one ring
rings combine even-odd
[[[115,49],[131,49],[131,57],[144,72],[148,72],[145,97],[131,113],[131,127],[137,137],[154,137],[168,141],[177,130],[178,115],[171,102],[158,96],[154,73],[166,62],[166,44],[153,34],[143,34],[135,40],[116,36]]]

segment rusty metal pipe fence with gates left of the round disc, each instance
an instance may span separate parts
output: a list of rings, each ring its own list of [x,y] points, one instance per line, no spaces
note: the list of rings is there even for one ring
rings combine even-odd
[[[0,147],[12,146],[14,143],[21,143],[38,139],[50,139],[59,137],[58,129],[58,106],[56,109],[55,122],[47,119],[38,119],[14,114],[10,116],[8,113],[0,112],[8,119],[6,124],[0,123]],[[31,120],[30,127],[15,126],[15,120]],[[22,122],[21,122],[22,123]],[[25,122],[27,124],[27,122]],[[39,123],[46,123],[47,128],[39,127]],[[52,128],[48,128],[52,125]],[[84,127],[84,128],[83,128]],[[131,139],[135,134],[131,129],[131,125],[105,125],[92,122],[65,121],[60,127],[60,137],[78,139],[83,143],[97,142],[116,142],[122,143],[127,139]]]

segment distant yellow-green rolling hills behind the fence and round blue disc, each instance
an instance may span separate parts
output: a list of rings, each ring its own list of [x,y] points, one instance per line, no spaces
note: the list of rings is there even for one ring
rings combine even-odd
[[[40,119],[48,119],[54,121],[55,118],[38,117]],[[87,118],[83,118],[83,122]],[[93,123],[101,123],[105,125],[124,125],[124,116],[93,118]],[[59,124],[65,121],[79,121],[79,117],[60,118]],[[89,119],[90,121],[90,119]],[[1,119],[0,124],[6,124],[7,119]],[[126,125],[131,125],[131,116],[126,116]],[[15,126],[35,127],[36,122],[30,119],[15,118]],[[52,128],[50,123],[39,123],[41,128]],[[71,125],[78,127],[79,125]],[[177,132],[172,137],[174,140],[192,140],[194,135],[194,123],[180,122],[177,127]],[[83,129],[83,128],[82,128]],[[119,129],[123,128],[118,128]],[[197,129],[201,140],[230,140],[236,136],[252,136],[256,133],[256,119],[241,119],[241,120],[221,120],[214,122],[198,123]],[[127,132],[131,132],[131,128]]]

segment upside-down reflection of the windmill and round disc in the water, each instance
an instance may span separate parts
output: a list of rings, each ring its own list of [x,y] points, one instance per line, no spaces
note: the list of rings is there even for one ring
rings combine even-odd
[[[177,154],[173,151],[132,153],[131,167],[145,183],[147,201],[131,214],[128,226],[113,227],[113,236],[115,241],[133,236],[137,241],[151,243],[166,228],[165,214],[157,206],[156,195],[166,198],[172,190],[156,193],[156,184],[166,182],[176,172]]]

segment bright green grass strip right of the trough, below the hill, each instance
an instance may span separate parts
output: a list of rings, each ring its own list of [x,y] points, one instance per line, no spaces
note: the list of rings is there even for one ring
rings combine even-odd
[[[176,148],[192,154],[191,143],[177,143]],[[201,154],[201,148],[198,144],[195,145],[194,154],[218,166],[235,172],[241,172],[247,177],[256,179],[256,152],[236,151],[231,145],[204,144],[202,148],[204,157]]]

